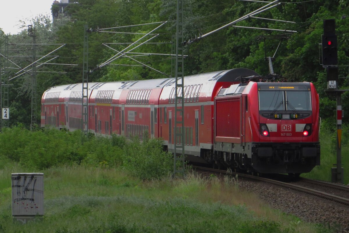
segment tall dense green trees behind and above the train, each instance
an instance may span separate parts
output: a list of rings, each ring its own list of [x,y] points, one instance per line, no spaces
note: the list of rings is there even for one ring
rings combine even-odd
[[[187,0],[184,2],[184,37],[192,41],[197,36],[213,31],[239,17],[246,15],[265,5],[252,1],[200,1]],[[54,10],[54,8],[52,9]],[[50,63],[77,64],[73,65],[41,65],[37,71],[54,71],[66,73],[37,73],[37,102],[47,88],[67,83],[82,81],[83,64],[83,28],[88,24],[91,29],[113,28],[106,31],[122,33],[106,33],[91,31],[89,33],[89,69],[94,70],[98,64],[114,56],[129,44],[107,44],[114,50],[107,48],[102,43],[131,43],[144,36],[145,33],[167,21],[164,26],[152,33],[158,34],[156,38],[132,52],[140,53],[174,53],[172,38],[176,32],[176,0],[81,0],[65,8],[65,15],[53,23],[48,16],[39,15],[32,20],[35,28],[37,55],[45,55],[60,45],[61,49],[52,55],[59,57]],[[185,75],[209,71],[224,70],[236,67],[246,67],[259,74],[269,73],[265,56],[273,56],[279,44],[279,39],[273,39],[281,34],[283,39],[273,61],[274,72],[283,75],[289,80],[314,82],[320,94],[320,115],[334,122],[335,101],[325,94],[326,74],[325,69],[319,64],[319,43],[323,32],[323,20],[336,20],[336,34],[339,44],[339,76],[347,77],[349,61],[349,41],[347,28],[349,22],[347,15],[349,4],[344,0],[291,0],[282,2],[280,6],[266,10],[257,17],[276,20],[287,20],[295,23],[262,20],[250,17],[236,23],[236,26],[258,27],[282,30],[295,30],[297,33],[280,31],[267,31],[251,28],[227,27],[217,31],[201,40],[185,46]],[[134,27],[122,27],[139,25]],[[31,63],[32,37],[28,36],[27,26],[17,35],[9,36],[9,56],[25,55],[28,57],[10,57],[20,67]],[[132,32],[133,34],[125,34]],[[147,36],[146,39],[150,38]],[[266,39],[265,39],[266,38]],[[140,42],[144,42],[142,39]],[[0,46],[5,47],[5,35],[0,29]],[[21,45],[20,45],[21,44]],[[56,44],[56,45],[52,45]],[[133,48],[134,46],[131,46]],[[131,49],[130,48],[130,49]],[[127,54],[132,56],[134,54]],[[140,55],[140,54],[138,54]],[[143,54],[144,55],[144,54]],[[52,58],[52,57],[48,57]],[[16,67],[6,63],[1,57],[5,67]],[[133,59],[146,64],[165,75],[174,74],[173,57],[164,55],[137,56]],[[47,59],[46,59],[47,60]],[[45,61],[46,61],[45,60]],[[89,75],[90,81],[138,80],[164,78],[164,74],[152,70],[130,58],[118,58],[113,64],[133,65],[106,65],[93,71]],[[140,65],[140,66],[134,66]],[[30,67],[29,67],[30,68]],[[28,69],[29,69],[28,68]],[[3,77],[15,77],[18,70],[5,69]],[[9,72],[9,73],[7,73]],[[10,84],[10,125],[23,123],[26,127],[30,124],[30,75],[24,74],[13,79]],[[349,89],[348,80],[340,79],[339,87]],[[348,93],[343,94],[342,105],[347,110]],[[38,108],[39,114],[39,108]],[[39,115],[37,117],[39,119]],[[343,119],[347,122],[347,119]]]

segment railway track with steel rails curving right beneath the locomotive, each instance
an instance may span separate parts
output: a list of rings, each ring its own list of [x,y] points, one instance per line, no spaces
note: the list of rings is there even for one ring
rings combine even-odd
[[[193,168],[220,173],[220,174],[227,173],[224,170],[218,170],[213,168],[196,167],[196,166],[193,166]],[[270,184],[281,186],[284,188],[289,188],[289,189],[310,194],[313,196],[321,197],[328,201],[339,203],[340,205],[344,205],[347,207],[349,206],[349,199],[347,198],[349,196],[349,187],[346,187],[343,185],[328,183],[324,181],[310,180],[306,178],[300,178],[298,181],[291,183],[291,182],[283,182],[279,180],[273,180],[265,177],[258,177],[258,176],[243,174],[243,173],[231,172],[231,174],[238,175],[239,177],[244,177],[251,180],[258,180],[261,182],[270,183]],[[304,184],[308,184],[308,185],[311,184],[312,188],[305,187],[306,185]],[[339,190],[340,191],[339,193],[342,195],[337,195],[338,192],[334,190]]]

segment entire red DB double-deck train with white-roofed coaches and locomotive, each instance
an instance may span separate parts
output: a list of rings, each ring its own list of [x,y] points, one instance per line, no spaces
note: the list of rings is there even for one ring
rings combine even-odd
[[[178,112],[178,121],[184,118],[185,137],[178,143],[189,161],[289,174],[320,165],[319,98],[313,83],[260,82],[259,77],[236,68],[184,78],[184,113]],[[148,133],[174,153],[174,131],[180,131],[174,122],[174,78],[88,83],[88,109],[82,108],[82,85],[44,92],[42,127],[81,129],[84,115],[84,127],[96,135],[142,140]]]

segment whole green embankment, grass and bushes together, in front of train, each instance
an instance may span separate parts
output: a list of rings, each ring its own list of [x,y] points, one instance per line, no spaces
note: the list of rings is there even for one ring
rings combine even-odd
[[[234,177],[171,180],[173,160],[156,140],[15,128],[0,146],[0,232],[335,232],[269,209]],[[12,221],[14,172],[44,173],[43,220]]]

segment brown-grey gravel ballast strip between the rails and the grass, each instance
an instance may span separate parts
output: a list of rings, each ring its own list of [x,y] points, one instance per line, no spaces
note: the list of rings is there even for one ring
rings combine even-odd
[[[239,187],[253,192],[272,208],[293,214],[303,221],[349,232],[349,206],[277,185],[239,178]]]

